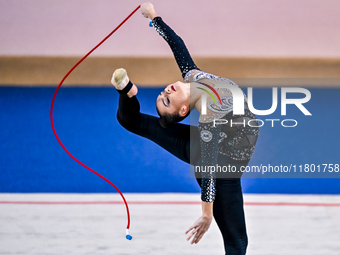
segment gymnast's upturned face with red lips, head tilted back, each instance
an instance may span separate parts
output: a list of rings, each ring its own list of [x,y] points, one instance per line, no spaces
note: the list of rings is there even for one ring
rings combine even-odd
[[[190,110],[190,84],[177,81],[165,87],[158,95],[156,107],[160,115],[185,116]]]

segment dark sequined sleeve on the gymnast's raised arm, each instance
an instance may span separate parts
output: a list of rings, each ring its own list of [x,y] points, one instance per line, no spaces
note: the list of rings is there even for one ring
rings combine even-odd
[[[161,17],[155,17],[152,24],[159,35],[169,44],[172,53],[176,59],[177,65],[181,70],[182,77],[185,78],[186,74],[191,70],[199,70],[192,60],[190,53],[185,46],[182,38],[173,31]],[[192,73],[192,72],[191,72]]]

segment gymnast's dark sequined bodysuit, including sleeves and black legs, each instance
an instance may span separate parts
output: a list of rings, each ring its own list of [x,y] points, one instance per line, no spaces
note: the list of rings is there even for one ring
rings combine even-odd
[[[223,80],[229,82],[225,78],[200,71],[183,40],[160,17],[154,18],[152,23],[169,44],[185,81],[214,83]],[[232,103],[227,95],[222,96],[222,100],[225,104]],[[209,107],[212,107],[212,110]],[[248,110],[245,116],[232,116],[230,111],[221,113],[214,106],[208,105],[208,108],[212,112],[217,111],[216,114],[225,119],[252,117]],[[217,162],[220,165],[233,164],[238,168],[246,166],[254,150],[258,134],[256,130],[243,129],[243,127],[225,126],[212,129],[211,123],[204,118],[200,118],[198,127],[175,123],[170,128],[163,128],[159,124],[159,118],[140,112],[136,96],[129,98],[125,94],[119,96],[117,119],[130,132],[157,143],[177,158],[194,165]],[[201,135],[202,132],[211,133],[211,139],[209,138],[208,142],[202,138],[204,137]],[[208,152],[212,151],[214,153],[210,155]],[[215,178],[214,175],[204,173],[197,174],[196,179],[202,189],[202,200],[214,201],[213,215],[222,233],[226,254],[245,254],[248,239],[240,179]]]

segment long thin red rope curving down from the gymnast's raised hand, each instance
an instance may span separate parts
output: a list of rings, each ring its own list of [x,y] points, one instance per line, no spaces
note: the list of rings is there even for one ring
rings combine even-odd
[[[67,152],[67,154],[73,158],[76,162],[78,162],[80,165],[82,165],[83,167],[85,167],[86,169],[90,170],[92,173],[98,175],[100,178],[104,179],[105,181],[107,181],[108,183],[110,183],[118,192],[119,194],[122,196],[125,206],[126,206],[126,212],[127,212],[127,217],[128,217],[128,224],[127,224],[127,229],[130,228],[130,212],[129,212],[129,206],[125,200],[125,197],[123,196],[123,193],[116,187],[116,185],[114,185],[110,180],[106,179],[104,176],[100,175],[99,173],[97,173],[96,171],[92,170],[90,167],[86,166],[84,163],[80,162],[78,159],[76,159],[67,149],[66,147],[62,144],[62,142],[60,141],[57,132],[55,131],[54,128],[54,123],[53,123],[53,105],[54,105],[54,100],[55,97],[58,93],[59,88],[61,87],[61,85],[63,84],[63,82],[66,80],[66,78],[72,73],[72,71],[81,63],[84,61],[85,58],[87,58],[93,51],[95,51],[103,42],[105,42],[114,32],[116,32],[118,30],[118,28],[120,28],[138,9],[140,8],[140,5],[133,11],[130,13],[129,16],[127,16],[122,23],[120,23],[110,34],[108,34],[100,43],[98,43],[92,50],[90,50],[81,60],[78,61],[77,64],[75,64],[70,71],[68,71],[68,73],[64,76],[64,78],[61,80],[61,82],[59,83],[59,86],[57,87],[56,91],[54,92],[53,95],[53,99],[52,99],[52,104],[51,104],[51,111],[50,111],[50,117],[51,117],[51,124],[52,124],[52,129],[53,129],[53,133],[55,135],[55,137],[57,138],[59,144],[61,145],[61,147],[63,147],[63,149]]]

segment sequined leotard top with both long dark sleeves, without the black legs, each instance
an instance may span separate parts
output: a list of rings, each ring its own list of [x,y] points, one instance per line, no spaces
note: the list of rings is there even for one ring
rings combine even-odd
[[[185,82],[207,84],[215,86],[216,84],[230,84],[238,87],[233,81],[209,74],[199,70],[192,61],[188,51],[183,50],[182,39],[169,28],[160,17],[153,20],[153,25],[156,31],[168,42]],[[207,169],[210,166],[220,165],[218,162],[226,163],[229,159],[238,161],[246,161],[251,158],[259,130],[255,125],[250,127],[246,125],[250,119],[256,119],[247,107],[247,100],[245,98],[245,114],[243,116],[234,116],[232,113],[233,97],[228,89],[219,89],[218,94],[221,97],[222,105],[218,106],[214,102],[208,103],[208,115],[202,115],[199,119],[198,129],[200,132],[201,141],[201,167]],[[244,123],[241,125],[218,125],[213,127],[213,119],[224,119],[230,123]],[[206,137],[206,138],[205,138]],[[218,155],[226,156],[227,160],[218,160]],[[221,158],[221,157],[220,157]],[[242,164],[241,164],[242,165]],[[239,174],[232,174],[229,177],[240,177],[241,169],[237,169]],[[227,176],[227,175],[226,175]],[[205,202],[213,202],[216,196],[216,176],[215,172],[203,171],[202,177],[202,195],[201,199]]]

